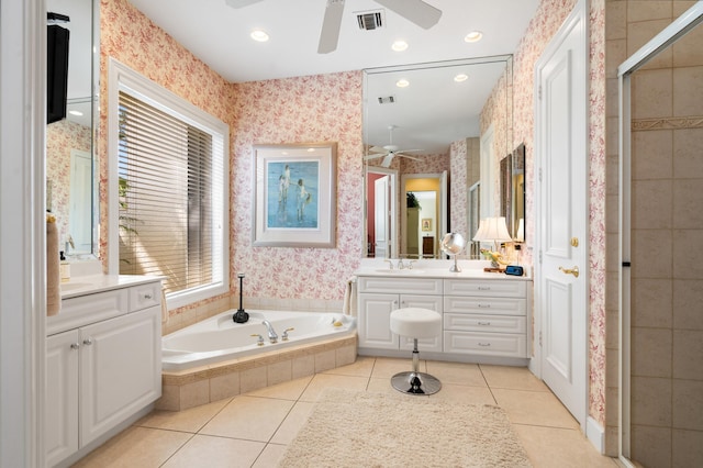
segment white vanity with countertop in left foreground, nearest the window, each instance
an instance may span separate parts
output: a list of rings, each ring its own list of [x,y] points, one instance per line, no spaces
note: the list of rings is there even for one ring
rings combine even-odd
[[[161,282],[75,277],[46,320],[47,466],[68,466],[161,394]]]

